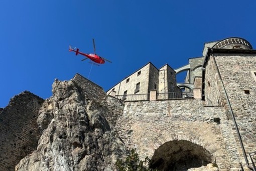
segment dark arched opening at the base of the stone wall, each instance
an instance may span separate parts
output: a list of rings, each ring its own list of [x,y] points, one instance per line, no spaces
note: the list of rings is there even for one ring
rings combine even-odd
[[[204,147],[188,140],[172,140],[155,150],[150,167],[158,170],[187,170],[214,162]]]

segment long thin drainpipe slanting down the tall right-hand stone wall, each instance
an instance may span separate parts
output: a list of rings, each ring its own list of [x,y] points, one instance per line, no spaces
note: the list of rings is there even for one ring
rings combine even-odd
[[[240,142],[240,146],[241,146],[241,149],[242,149],[242,153],[243,153],[244,160],[245,160],[246,165],[247,165],[247,167],[248,167],[249,169],[251,169],[251,170],[253,170],[253,171],[256,171],[256,168],[255,168],[255,167],[249,165],[249,162],[248,162],[248,159],[247,159],[247,155],[246,155],[246,152],[245,152],[243,143],[242,143],[242,138],[241,138],[241,135],[240,135],[238,126],[237,126],[237,124],[236,124],[235,116],[234,116],[234,113],[233,113],[233,110],[232,110],[230,101],[229,101],[229,99],[228,99],[227,92],[226,92],[226,89],[225,89],[223,80],[222,80],[222,78],[221,78],[221,75],[220,75],[220,72],[219,72],[219,68],[218,68],[218,66],[217,66],[217,62],[216,62],[216,60],[215,60],[215,56],[214,56],[214,54],[213,54],[213,49],[211,49],[211,53],[212,53],[212,56],[213,56],[214,64],[216,65],[216,68],[217,68],[217,72],[218,72],[219,78],[220,78],[220,80],[221,80],[222,87],[223,87],[223,89],[224,89],[224,93],[225,93],[225,96],[226,96],[226,99],[227,99],[227,103],[228,103],[228,106],[229,106],[229,109],[230,109],[230,112],[231,112],[231,116],[232,116],[232,119],[233,119],[233,123],[234,123],[234,126],[235,126],[235,130],[236,130],[236,133],[237,133],[237,135],[238,135],[238,139],[239,139],[239,142]]]

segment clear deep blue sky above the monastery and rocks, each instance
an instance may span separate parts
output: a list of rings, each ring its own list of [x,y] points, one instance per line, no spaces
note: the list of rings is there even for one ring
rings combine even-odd
[[[105,90],[151,61],[174,69],[202,55],[203,43],[255,39],[255,0],[1,0],[0,107],[29,90],[52,95],[55,78],[88,77],[91,64],[68,45],[112,63],[92,66]]]

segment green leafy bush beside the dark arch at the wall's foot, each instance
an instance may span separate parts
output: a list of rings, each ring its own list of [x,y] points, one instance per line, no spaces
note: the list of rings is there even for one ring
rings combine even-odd
[[[148,157],[144,161],[140,160],[136,150],[132,149],[124,161],[117,159],[115,166],[119,171],[157,171],[148,167],[149,162],[150,159]]]

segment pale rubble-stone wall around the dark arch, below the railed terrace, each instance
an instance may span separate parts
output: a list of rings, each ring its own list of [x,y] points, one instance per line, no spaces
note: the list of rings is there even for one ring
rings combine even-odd
[[[208,150],[221,170],[238,170],[240,158],[224,112],[200,99],[125,102],[118,133],[142,158],[166,142],[188,140]]]

